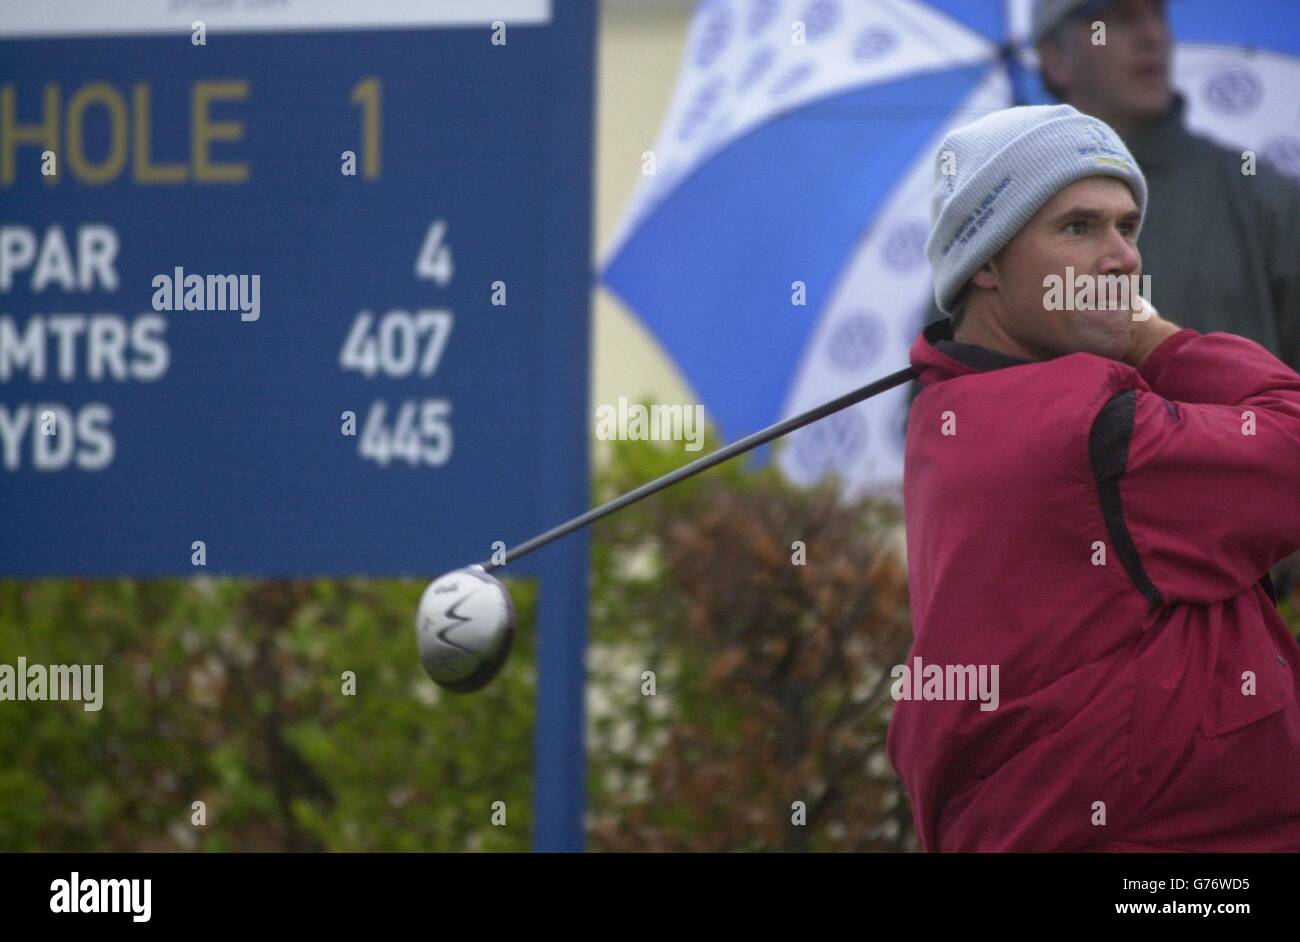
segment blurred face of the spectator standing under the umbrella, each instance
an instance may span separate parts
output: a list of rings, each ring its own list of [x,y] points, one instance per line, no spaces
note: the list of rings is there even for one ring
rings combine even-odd
[[[1106,25],[1105,45],[1093,44],[1095,21]],[[1071,17],[1060,44],[1043,42],[1039,53],[1065,100],[1108,123],[1141,123],[1169,108],[1173,38],[1164,0],[1115,0],[1093,17]]]

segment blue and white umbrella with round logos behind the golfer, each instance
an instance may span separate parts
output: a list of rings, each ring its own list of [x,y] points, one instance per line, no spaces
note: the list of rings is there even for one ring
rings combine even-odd
[[[1049,100],[1031,0],[705,0],[602,281],[727,438],[907,364],[939,143]],[[1300,3],[1171,0],[1193,131],[1300,175]],[[802,300],[802,303],[800,303]],[[907,390],[792,437],[783,470],[898,498]]]

